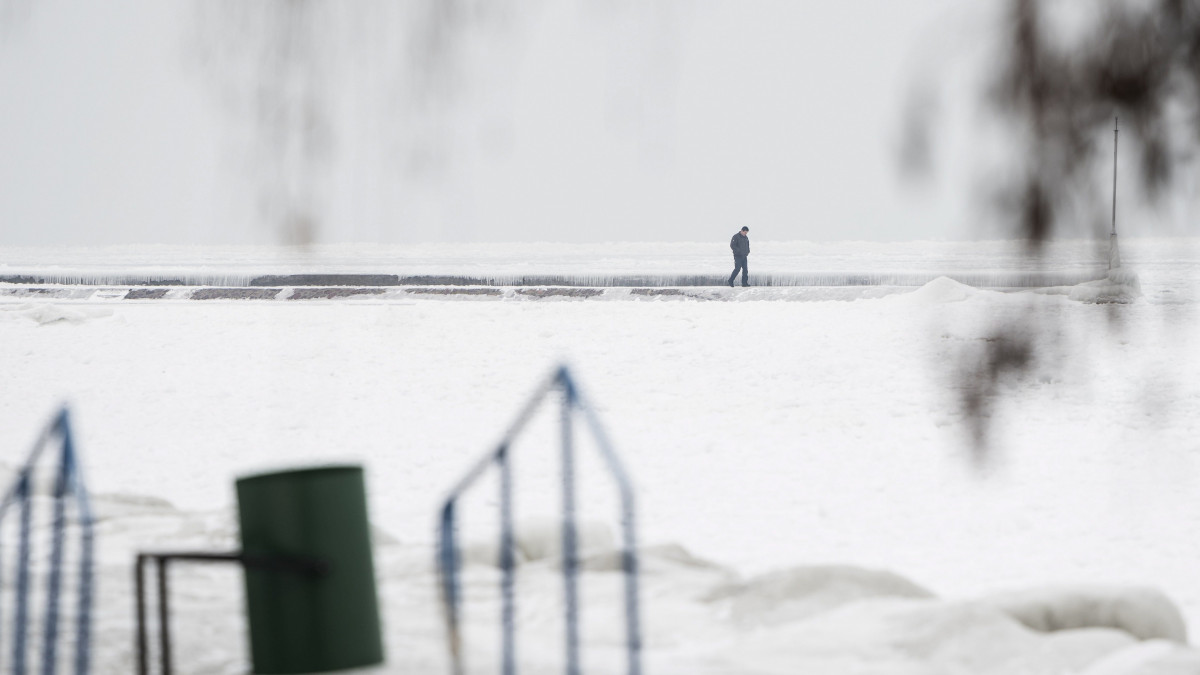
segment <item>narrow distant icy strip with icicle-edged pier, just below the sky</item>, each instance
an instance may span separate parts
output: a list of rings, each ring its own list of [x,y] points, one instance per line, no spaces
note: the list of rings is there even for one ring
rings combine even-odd
[[[1106,273],[1108,240],[755,241],[755,286],[919,287],[938,276],[986,288],[1075,286]],[[1136,239],[1126,265],[1150,280],[1147,295],[1184,292],[1200,239]],[[727,251],[708,243],[414,244],[407,246],[0,247],[0,288],[571,286],[692,287],[727,282]]]

